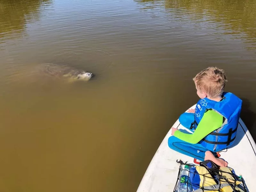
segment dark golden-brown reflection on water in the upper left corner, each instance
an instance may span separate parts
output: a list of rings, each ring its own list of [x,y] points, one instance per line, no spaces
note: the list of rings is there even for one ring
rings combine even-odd
[[[40,10],[52,4],[52,0],[1,0],[0,1],[0,39],[22,36],[26,24],[40,19]]]

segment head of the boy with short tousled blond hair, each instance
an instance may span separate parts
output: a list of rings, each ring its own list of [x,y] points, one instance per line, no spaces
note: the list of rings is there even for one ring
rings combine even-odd
[[[197,95],[201,99],[221,97],[227,82],[224,70],[216,67],[208,67],[200,71],[193,80],[196,84]]]

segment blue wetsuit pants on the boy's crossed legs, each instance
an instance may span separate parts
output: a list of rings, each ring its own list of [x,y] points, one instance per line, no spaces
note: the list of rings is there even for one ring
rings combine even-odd
[[[194,122],[194,115],[194,113],[181,114],[179,117],[180,124],[189,129],[191,123]],[[179,153],[191,156],[201,161],[204,161],[205,151],[209,151],[209,149],[204,148],[199,143],[191,144],[174,136],[169,137],[168,145],[171,149],[178,151]]]

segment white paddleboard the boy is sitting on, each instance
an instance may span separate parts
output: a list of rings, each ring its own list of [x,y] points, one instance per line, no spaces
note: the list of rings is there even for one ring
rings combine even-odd
[[[195,108],[194,105],[192,108]],[[183,127],[179,119],[172,127],[178,129],[188,129]],[[137,192],[167,192],[173,191],[180,164],[176,160],[195,164],[195,159],[181,153],[178,153],[168,146],[168,138],[171,137],[172,130],[167,133],[164,140],[157,149],[152,158],[148,169],[146,170]],[[236,175],[242,175],[245,184],[250,192],[255,189],[255,168],[256,168],[256,145],[250,132],[245,126],[244,122],[239,119],[237,128],[237,135],[234,147],[221,151],[220,158],[228,162],[228,166],[233,168]]]

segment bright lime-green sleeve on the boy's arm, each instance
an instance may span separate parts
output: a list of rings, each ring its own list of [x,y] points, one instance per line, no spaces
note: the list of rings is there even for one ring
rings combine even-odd
[[[223,116],[214,110],[208,110],[204,113],[201,121],[196,127],[193,134],[183,133],[180,131],[174,132],[174,136],[188,143],[196,144],[206,135],[218,129],[223,123]]]

